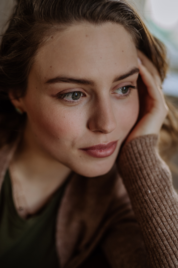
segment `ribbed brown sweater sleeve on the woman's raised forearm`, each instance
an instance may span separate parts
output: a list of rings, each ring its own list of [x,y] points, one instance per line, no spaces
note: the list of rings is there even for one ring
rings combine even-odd
[[[128,191],[148,253],[148,267],[178,267],[178,196],[160,158],[157,135],[128,142],[118,169]]]

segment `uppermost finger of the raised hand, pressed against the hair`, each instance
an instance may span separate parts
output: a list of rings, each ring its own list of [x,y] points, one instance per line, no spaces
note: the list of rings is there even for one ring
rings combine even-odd
[[[148,57],[141,52],[139,49],[137,49],[138,52],[138,57],[140,58],[140,60],[142,61],[143,65],[146,66],[146,68],[148,69],[148,71],[151,73],[151,75],[154,77],[156,84],[158,86],[161,86],[162,81],[160,78],[160,74],[157,70],[157,68],[155,67],[155,65],[152,63],[152,61],[150,59],[148,59]]]

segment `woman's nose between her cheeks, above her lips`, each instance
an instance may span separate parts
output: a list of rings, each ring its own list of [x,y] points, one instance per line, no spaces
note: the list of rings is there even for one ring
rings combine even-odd
[[[98,99],[91,110],[92,113],[88,121],[90,130],[101,131],[104,134],[109,134],[115,130],[117,122],[108,96],[105,99]]]

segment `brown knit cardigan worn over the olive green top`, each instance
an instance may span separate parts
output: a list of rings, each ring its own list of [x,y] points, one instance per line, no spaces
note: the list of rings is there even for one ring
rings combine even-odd
[[[79,267],[98,244],[112,268],[178,267],[178,196],[156,144],[145,135],[123,146],[123,181],[115,167],[95,178],[72,175],[56,223],[61,267]],[[0,151],[0,186],[13,151]]]

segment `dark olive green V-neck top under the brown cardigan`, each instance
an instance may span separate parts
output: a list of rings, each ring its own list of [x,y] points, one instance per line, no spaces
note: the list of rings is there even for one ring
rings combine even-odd
[[[50,201],[28,219],[14,206],[9,172],[0,194],[0,267],[58,268],[55,247],[56,216],[68,180]]]

